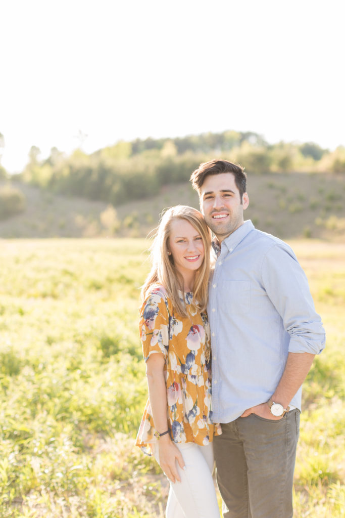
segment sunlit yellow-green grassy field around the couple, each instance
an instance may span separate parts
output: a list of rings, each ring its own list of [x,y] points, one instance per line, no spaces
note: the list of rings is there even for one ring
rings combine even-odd
[[[295,517],[336,518],[345,515],[345,245],[291,244],[327,332],[304,388]],[[133,446],[146,400],[146,247],[0,240],[1,518],[163,518],[168,484]]]

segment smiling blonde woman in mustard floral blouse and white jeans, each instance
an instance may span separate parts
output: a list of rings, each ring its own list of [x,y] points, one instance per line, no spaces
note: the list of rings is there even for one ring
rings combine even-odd
[[[143,289],[140,336],[149,398],[137,445],[170,481],[167,518],[219,518],[212,478],[211,361],[206,314],[211,234],[202,214],[164,213]]]

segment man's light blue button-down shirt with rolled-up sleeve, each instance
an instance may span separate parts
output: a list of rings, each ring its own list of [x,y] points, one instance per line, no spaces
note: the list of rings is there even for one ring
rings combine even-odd
[[[246,221],[221,243],[209,287],[215,423],[272,396],[288,353],[319,354],[325,333],[297,258]],[[291,401],[301,410],[302,387]],[[278,401],[279,402],[279,401]]]

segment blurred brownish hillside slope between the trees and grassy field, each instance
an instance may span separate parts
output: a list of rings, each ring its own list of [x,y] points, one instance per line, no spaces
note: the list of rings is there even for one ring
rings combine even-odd
[[[53,195],[14,183],[26,208],[0,221],[0,238],[145,237],[172,205],[198,207],[189,182],[164,186],[159,195],[111,207],[83,198]],[[248,175],[246,218],[283,239],[345,238],[345,175],[286,173]]]

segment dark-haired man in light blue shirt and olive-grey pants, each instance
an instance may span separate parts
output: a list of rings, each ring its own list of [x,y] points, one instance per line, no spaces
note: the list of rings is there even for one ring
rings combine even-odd
[[[324,348],[322,322],[288,244],[244,221],[243,168],[213,160],[191,181],[215,234],[208,315],[223,515],[291,518],[301,385]]]

